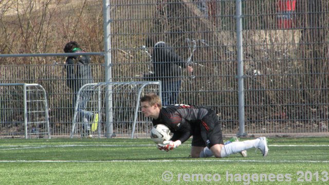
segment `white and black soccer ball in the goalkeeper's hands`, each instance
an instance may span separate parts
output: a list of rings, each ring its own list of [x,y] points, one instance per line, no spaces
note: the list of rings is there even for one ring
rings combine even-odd
[[[157,144],[162,144],[163,141],[169,141],[170,138],[170,130],[166,125],[157,124],[151,129],[151,139]]]

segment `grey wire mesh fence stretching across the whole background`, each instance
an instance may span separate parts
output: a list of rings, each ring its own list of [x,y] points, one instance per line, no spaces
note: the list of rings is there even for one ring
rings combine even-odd
[[[181,73],[178,101],[212,107],[224,135],[239,131],[241,64],[248,136],[328,135],[327,1],[241,1],[242,16],[236,16],[235,0],[109,2],[113,82],[140,81],[141,73],[153,71],[143,47],[147,36],[168,43],[185,61],[195,43],[194,71]],[[62,53],[72,40],[87,52],[103,51],[102,3],[1,1],[0,52]],[[237,19],[243,63],[237,60]],[[0,83],[46,89],[52,137],[69,137],[74,114],[64,62],[65,57],[0,57]],[[103,82],[104,58],[92,56],[92,63],[95,83]]]

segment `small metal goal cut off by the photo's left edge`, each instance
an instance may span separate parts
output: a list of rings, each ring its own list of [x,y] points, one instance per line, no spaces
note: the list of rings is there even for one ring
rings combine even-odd
[[[45,89],[39,84],[0,84],[1,137],[50,138]]]

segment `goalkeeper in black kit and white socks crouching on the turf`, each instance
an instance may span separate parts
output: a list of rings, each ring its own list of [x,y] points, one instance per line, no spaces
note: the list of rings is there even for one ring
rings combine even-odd
[[[159,96],[155,94],[141,97],[140,106],[145,117],[153,118],[153,125],[164,124],[173,133],[170,141],[163,141],[157,145],[161,151],[173,150],[193,136],[193,158],[228,157],[251,148],[259,149],[264,157],[268,154],[266,137],[234,141],[224,145],[220,121],[214,110],[209,107],[184,104],[162,107]]]

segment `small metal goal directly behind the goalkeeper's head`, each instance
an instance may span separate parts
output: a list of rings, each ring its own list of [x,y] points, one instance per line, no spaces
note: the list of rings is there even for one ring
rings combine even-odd
[[[143,94],[161,96],[160,81],[100,82],[83,85],[77,94],[70,138],[144,137],[152,123],[141,111]]]

